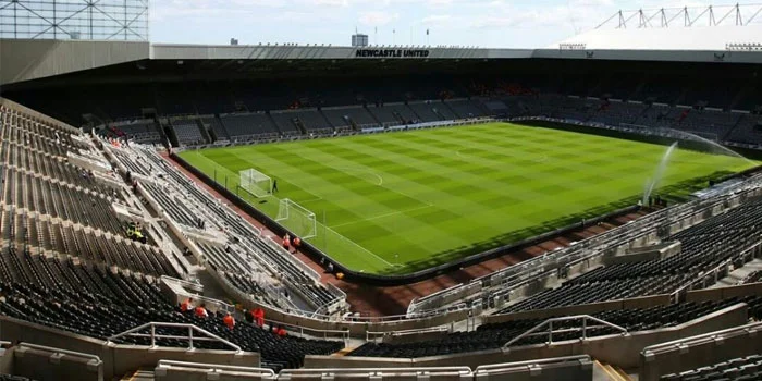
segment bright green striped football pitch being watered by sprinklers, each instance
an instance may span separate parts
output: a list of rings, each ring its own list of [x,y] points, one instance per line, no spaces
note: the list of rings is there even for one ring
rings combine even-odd
[[[308,241],[349,269],[404,274],[635,205],[665,146],[489,123],[189,150],[236,192],[254,168],[280,192],[239,195],[275,217],[288,198],[316,216]],[[681,197],[745,159],[677,149],[657,194]]]

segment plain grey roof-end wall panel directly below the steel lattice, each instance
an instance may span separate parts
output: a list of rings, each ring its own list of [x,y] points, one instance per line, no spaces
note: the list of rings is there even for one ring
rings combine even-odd
[[[0,39],[0,85],[148,59],[148,42]]]

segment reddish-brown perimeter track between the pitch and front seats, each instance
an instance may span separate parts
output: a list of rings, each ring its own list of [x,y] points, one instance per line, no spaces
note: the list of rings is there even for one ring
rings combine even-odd
[[[220,193],[209,187],[204,181],[196,177],[193,173],[184,169],[182,165],[177,164],[171,157],[165,152],[161,152],[161,157],[164,158],[174,169],[179,170],[185,174],[188,179],[193,180],[196,184],[207,189],[212,196],[218,199],[224,199],[228,206],[243,217],[246,221],[253,225],[262,229],[266,235],[274,235],[271,231],[265,228],[255,218],[243,211],[241,208],[235,206],[231,200],[222,196]],[[521,250],[512,251],[502,257],[490,259],[477,265],[472,265],[457,271],[452,271],[446,274],[438,275],[432,279],[400,285],[400,286],[369,286],[365,284],[349,283],[337,280],[332,274],[327,274],[323,272],[323,268],[316,263],[310,257],[304,255],[303,253],[297,253],[295,256],[302,260],[304,263],[315,269],[321,274],[321,282],[332,283],[342,291],[346,293],[347,303],[352,305],[353,312],[360,312],[362,316],[390,316],[390,315],[402,315],[407,311],[407,306],[416,297],[421,297],[430,295],[440,290],[444,290],[456,285],[458,283],[467,283],[476,278],[486,275],[488,273],[494,272],[499,269],[503,269],[507,266],[512,266],[524,260],[537,257],[552,250],[557,247],[566,247],[572,242],[581,241],[593,235],[603,233],[616,226],[623,225],[629,221],[636,220],[642,216],[646,216],[648,211],[643,210],[636,213],[629,213],[626,216],[620,216],[614,219],[606,220],[599,225],[589,226],[586,229],[576,230],[566,234],[554,236],[545,242],[538,245],[524,248]]]

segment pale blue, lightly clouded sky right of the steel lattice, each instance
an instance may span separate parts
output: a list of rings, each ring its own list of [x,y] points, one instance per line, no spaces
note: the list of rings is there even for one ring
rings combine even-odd
[[[541,48],[589,30],[620,9],[708,4],[675,0],[153,0],[150,34],[152,42],[228,45],[236,38],[241,45],[347,46],[357,29],[369,36],[371,45]]]

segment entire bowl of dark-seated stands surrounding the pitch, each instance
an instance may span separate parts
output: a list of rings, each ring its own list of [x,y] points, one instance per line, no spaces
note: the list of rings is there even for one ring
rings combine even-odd
[[[35,335],[46,330],[82,335],[99,348],[125,345],[140,356],[153,353],[153,345],[190,346],[187,353],[195,347],[194,356],[204,358],[205,349],[241,355],[231,345],[261,355],[260,364],[245,369],[145,360],[142,366],[156,366],[158,380],[212,379],[226,371],[268,380],[592,380],[590,356],[552,357],[595,351],[612,358],[629,354],[623,360],[628,366],[637,361],[631,354],[640,353],[640,369],[629,371],[639,371],[641,380],[762,378],[757,346],[762,272],[736,278],[733,286],[718,282],[747,270],[762,251],[762,176],[754,172],[678,205],[647,207],[638,211],[643,217],[618,228],[598,226],[603,233],[587,238],[582,221],[579,242],[560,239],[537,257],[525,253],[519,259],[526,260],[479,278],[447,273],[451,282],[433,294],[409,286],[405,292],[416,298],[407,314],[365,317],[352,314],[347,295],[334,283],[360,292],[365,285],[319,273],[320,267],[302,261],[304,253],[292,255],[279,245],[273,232],[282,226],[247,222],[238,214],[241,205],[217,198],[216,192],[226,189],[208,190],[171,161],[177,147],[459,125],[482,116],[762,145],[758,64],[726,66],[720,62],[724,54],[716,62],[678,64],[578,53],[587,59],[546,56],[505,66],[492,59],[442,59],[443,65],[432,59],[437,66],[430,73],[416,69],[416,61],[395,60],[421,74],[405,76],[390,75],[396,66],[385,60],[378,67],[323,62],[315,72],[342,73],[325,78],[284,74],[295,72],[291,61],[255,67],[254,61],[225,59],[218,66],[199,60],[205,69],[195,71],[189,62],[183,67],[202,83],[94,86],[78,84],[82,74],[74,73],[66,78],[72,89],[56,86],[39,97],[36,85],[11,87],[14,99],[94,134],[0,99],[0,320]],[[137,71],[169,78],[180,64],[144,64],[150,61],[109,69],[107,76]],[[236,75],[253,79],[218,81],[233,64],[241,65]],[[712,65],[720,69],[710,72]],[[394,126],[400,127],[380,128]],[[159,144],[176,147],[151,146]],[[145,226],[143,242],[131,235],[136,222]],[[657,246],[671,251],[631,256]],[[172,288],[170,281],[187,290]],[[179,302],[192,295],[214,300],[208,318],[181,310]],[[256,307],[267,310],[265,327],[243,318]],[[236,317],[235,329],[225,327],[225,311]],[[539,330],[548,324],[549,331]],[[285,336],[273,332],[279,325],[288,329]],[[218,340],[186,340],[188,327]],[[135,329],[143,333],[130,332]],[[518,351],[527,352],[511,357]],[[549,358],[519,361],[529,351]],[[503,360],[513,362],[474,366]],[[428,368],[427,361],[447,367]],[[347,364],[364,367],[337,369]],[[293,369],[305,365],[321,369]],[[0,368],[0,379],[14,377]]]

